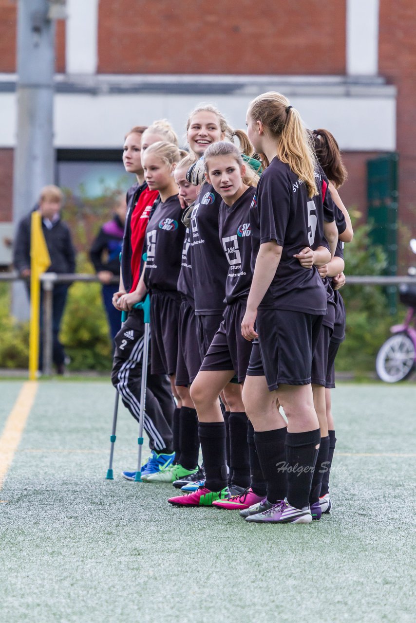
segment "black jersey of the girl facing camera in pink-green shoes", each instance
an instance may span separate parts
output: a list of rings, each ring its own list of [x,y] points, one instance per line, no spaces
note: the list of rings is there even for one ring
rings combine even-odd
[[[220,241],[228,262],[225,282],[225,300],[228,305],[246,299],[251,286],[251,230],[250,206],[256,194],[248,188],[233,206],[224,201],[220,205],[218,221]]]

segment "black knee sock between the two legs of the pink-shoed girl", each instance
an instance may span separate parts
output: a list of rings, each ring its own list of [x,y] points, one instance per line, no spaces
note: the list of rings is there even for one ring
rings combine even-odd
[[[228,482],[244,489],[250,486],[250,462],[247,443],[247,416],[244,411],[231,411],[230,428],[230,475]]]

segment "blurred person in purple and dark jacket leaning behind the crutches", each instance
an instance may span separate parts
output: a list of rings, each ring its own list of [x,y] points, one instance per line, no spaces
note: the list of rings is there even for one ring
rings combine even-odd
[[[112,303],[114,293],[119,290],[119,283],[112,283],[112,279],[120,275],[119,258],[126,212],[125,194],[120,194],[117,197],[114,217],[111,221],[104,223],[90,249],[90,260],[102,283],[102,298],[109,320],[112,342],[120,330],[122,316]]]

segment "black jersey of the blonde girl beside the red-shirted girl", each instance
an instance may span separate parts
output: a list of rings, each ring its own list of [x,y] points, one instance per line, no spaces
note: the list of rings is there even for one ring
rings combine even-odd
[[[145,283],[149,290],[177,291],[185,225],[178,195],[160,202],[146,228]]]

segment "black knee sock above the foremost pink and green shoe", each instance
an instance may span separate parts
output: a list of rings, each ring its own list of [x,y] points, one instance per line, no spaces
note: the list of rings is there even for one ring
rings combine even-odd
[[[221,491],[228,484],[224,422],[200,422],[198,427],[205,469],[205,487]]]

